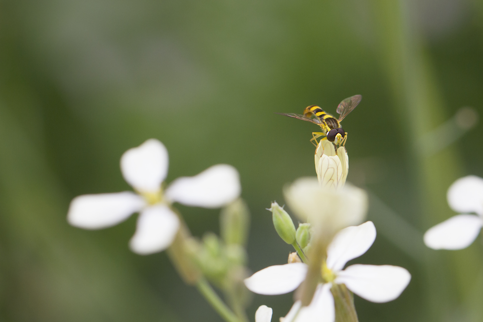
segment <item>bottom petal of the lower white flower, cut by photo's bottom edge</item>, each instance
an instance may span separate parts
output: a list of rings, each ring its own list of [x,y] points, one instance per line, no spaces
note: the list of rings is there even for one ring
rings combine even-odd
[[[330,292],[332,284],[319,284],[312,302],[308,307],[301,308],[296,322],[334,322],[335,306],[334,297]]]

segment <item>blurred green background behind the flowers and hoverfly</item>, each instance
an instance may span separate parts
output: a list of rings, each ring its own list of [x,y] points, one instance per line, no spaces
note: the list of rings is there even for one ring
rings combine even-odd
[[[422,242],[454,214],[449,185],[483,176],[482,126],[464,124],[483,112],[483,1],[1,0],[0,24],[1,321],[221,321],[165,253],[128,250],[136,216],[81,230],[70,200],[130,190],[119,158],[156,138],[168,182],[238,168],[249,267],[283,264],[265,209],[315,175],[317,126],[273,112],[335,113],[355,94],[348,180],[368,190],[378,237],[354,262],[412,273],[393,302],[356,297],[360,321],[483,321],[481,238]],[[179,210],[194,235],[218,232],[218,210]],[[292,294],[255,295],[252,320],[262,304],[278,321]]]

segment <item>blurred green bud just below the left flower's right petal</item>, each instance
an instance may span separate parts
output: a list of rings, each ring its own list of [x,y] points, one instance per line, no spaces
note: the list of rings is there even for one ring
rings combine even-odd
[[[244,245],[250,228],[250,211],[243,199],[230,203],[221,210],[220,231],[225,244]]]

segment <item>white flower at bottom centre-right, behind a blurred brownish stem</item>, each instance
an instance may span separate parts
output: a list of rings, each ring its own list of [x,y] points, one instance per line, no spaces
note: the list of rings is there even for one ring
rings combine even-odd
[[[342,229],[327,248],[327,262],[321,267],[324,282],[317,286],[311,304],[300,308],[300,301],[297,301],[284,320],[292,321],[297,313],[297,322],[333,322],[335,308],[330,292],[333,283],[345,284],[349,290],[371,302],[396,299],[411,280],[411,274],[405,268],[355,264],[343,269],[348,261],[367,252],[375,238],[376,229],[372,222]],[[294,291],[306,274],[307,265],[303,263],[270,266],[246,279],[245,285],[258,294],[284,294]]]

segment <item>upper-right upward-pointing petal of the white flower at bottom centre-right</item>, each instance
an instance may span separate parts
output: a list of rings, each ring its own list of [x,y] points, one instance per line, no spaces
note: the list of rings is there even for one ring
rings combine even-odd
[[[376,239],[376,227],[372,222],[342,229],[327,248],[327,267],[339,271],[344,265],[367,252]]]

